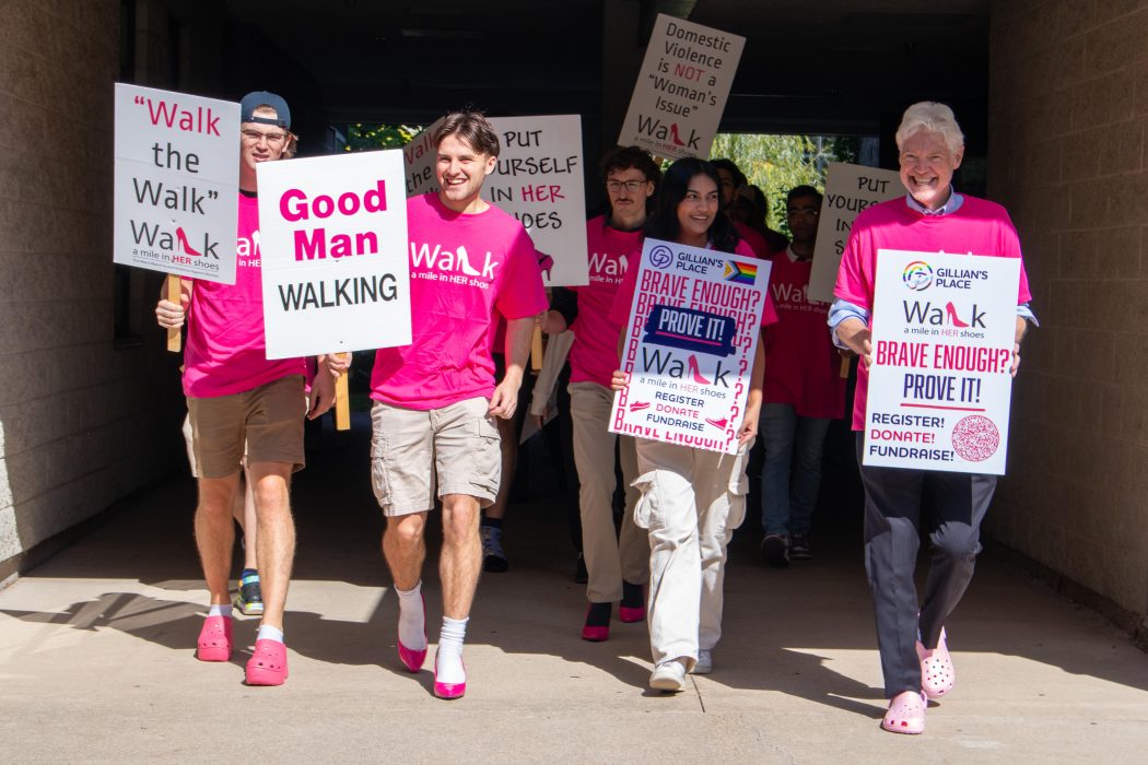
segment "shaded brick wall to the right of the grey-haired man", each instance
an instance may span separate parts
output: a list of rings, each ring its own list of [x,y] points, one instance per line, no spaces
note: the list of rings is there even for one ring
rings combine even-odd
[[[994,0],[990,195],[1041,320],[993,537],[1148,626],[1148,2]]]

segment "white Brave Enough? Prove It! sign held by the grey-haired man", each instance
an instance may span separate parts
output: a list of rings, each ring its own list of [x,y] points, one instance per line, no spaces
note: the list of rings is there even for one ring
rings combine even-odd
[[[868,466],[1004,474],[1019,258],[878,250]]]

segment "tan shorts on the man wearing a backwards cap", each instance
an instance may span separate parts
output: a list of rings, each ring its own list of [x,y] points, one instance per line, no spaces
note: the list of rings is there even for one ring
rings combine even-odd
[[[289,375],[242,393],[188,398],[194,469],[202,478],[225,478],[248,465],[289,462],[302,470],[303,376]]]

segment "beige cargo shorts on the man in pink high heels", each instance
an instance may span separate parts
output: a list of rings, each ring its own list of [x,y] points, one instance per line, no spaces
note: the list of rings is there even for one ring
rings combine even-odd
[[[482,507],[495,501],[502,446],[489,405],[479,397],[420,412],[374,403],[371,484],[383,515],[434,509],[436,483],[439,497],[467,494]]]

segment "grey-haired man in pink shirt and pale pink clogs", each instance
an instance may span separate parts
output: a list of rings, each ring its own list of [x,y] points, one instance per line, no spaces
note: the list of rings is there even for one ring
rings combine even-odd
[[[964,155],[964,135],[953,110],[923,101],[909,107],[897,131],[901,184],[908,195],[866,209],[850,232],[830,310],[829,325],[839,345],[861,357],[853,407],[853,429],[864,427],[872,343],[874,274],[881,249],[920,252],[974,252],[1021,258],[1021,243],[1004,208],[953,189],[953,172]],[[1011,373],[1021,365],[1021,341],[1032,296],[1021,264],[1016,344]],[[858,462],[864,434],[858,432]],[[996,477],[964,473],[861,466],[864,486],[866,572],[872,591],[877,646],[889,711],[882,727],[922,733],[928,698],[953,689],[955,671],[945,620],[972,579],[980,552],[980,522],[988,510]],[[922,494],[931,498],[929,541],[932,562],[923,600],[917,599],[916,569]]]

